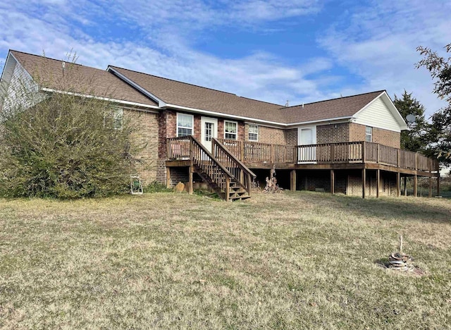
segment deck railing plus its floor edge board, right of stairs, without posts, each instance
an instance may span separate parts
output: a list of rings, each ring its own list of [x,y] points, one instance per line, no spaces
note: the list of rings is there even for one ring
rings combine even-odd
[[[373,142],[316,145],[220,140],[249,169],[381,169],[418,176],[438,176],[438,161]]]

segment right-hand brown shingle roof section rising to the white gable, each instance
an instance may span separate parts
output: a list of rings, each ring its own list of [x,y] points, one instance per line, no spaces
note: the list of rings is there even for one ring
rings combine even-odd
[[[298,106],[283,108],[283,115],[287,123],[299,123],[308,121],[320,121],[330,118],[351,117],[378,97],[383,90],[365,94],[327,99]]]

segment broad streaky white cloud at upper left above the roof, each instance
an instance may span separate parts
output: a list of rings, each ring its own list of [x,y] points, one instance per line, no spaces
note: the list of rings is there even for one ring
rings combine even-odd
[[[283,8],[285,15],[292,16],[297,15],[297,10],[299,15],[311,10],[304,7],[314,2],[295,1],[286,6],[270,1],[266,6],[273,9]],[[145,25],[148,30],[152,30],[156,25],[164,26],[164,22],[172,22],[168,28],[157,29],[158,33],[152,32],[150,46],[149,43],[140,41],[100,41],[82,32],[80,28],[74,30],[77,25],[71,20],[75,19],[78,23],[82,21],[87,25],[95,24],[92,22],[92,13],[94,16],[99,15],[104,8],[82,1],[82,4],[77,3],[77,6],[80,5],[84,12],[92,13],[73,13],[73,5],[61,1],[44,8],[45,18],[36,14],[38,6],[35,3],[30,4],[30,11],[23,8],[24,3],[20,4],[20,8],[12,5],[9,8],[0,6],[0,14],[4,18],[0,21],[0,31],[3,31],[0,33],[0,50],[6,52],[11,48],[32,54],[42,54],[44,50],[47,56],[62,59],[63,54],[74,49],[79,56],[78,63],[87,66],[106,68],[108,64],[113,64],[278,104],[285,104],[286,99],[293,99],[292,95],[318,95],[319,86],[313,78],[306,78],[306,75],[321,72],[331,66],[327,59],[312,59],[305,66],[288,66],[277,56],[261,51],[240,59],[205,54],[192,48],[180,28],[185,28],[185,24],[197,22],[197,26],[190,26],[188,29],[188,32],[192,32],[199,25],[216,19],[219,20],[216,24],[222,24],[221,20],[226,22],[226,12],[223,8],[218,10],[201,1],[192,1],[189,4],[187,1],[167,1],[164,5],[161,1],[150,1],[140,8],[134,7],[136,3],[140,4],[139,1],[127,5],[125,1],[115,1],[109,9],[112,13],[121,11],[123,17],[130,20],[130,24]],[[224,3],[224,6],[229,8],[235,6],[234,4]],[[242,2],[241,6],[234,10],[244,15],[242,11],[245,6],[257,5],[264,6],[261,1]],[[247,21],[273,19],[265,18],[263,10],[261,9],[258,17],[249,16]],[[54,16],[58,18],[55,17],[53,21]],[[180,18],[180,26],[174,26],[173,22],[178,22],[176,18]],[[240,17],[234,19],[236,22]],[[230,24],[230,21],[226,23]]]

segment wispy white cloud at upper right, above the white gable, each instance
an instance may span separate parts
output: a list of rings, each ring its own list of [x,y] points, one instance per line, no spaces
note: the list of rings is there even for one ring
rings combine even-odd
[[[419,45],[442,49],[449,43],[449,1],[372,1],[342,16],[319,42],[333,58],[364,79],[355,92],[406,89],[426,106],[428,115],[444,105],[432,94],[431,76],[414,64]]]

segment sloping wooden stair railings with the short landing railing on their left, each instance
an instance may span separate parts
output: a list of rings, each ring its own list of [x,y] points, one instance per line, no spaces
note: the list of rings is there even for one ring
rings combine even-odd
[[[168,138],[166,142],[168,159],[192,161],[192,164],[201,169],[220,188],[226,200],[229,199],[230,183],[240,185],[250,196],[252,178],[256,177],[255,174],[218,140],[214,139],[212,146],[216,156],[193,136]]]

